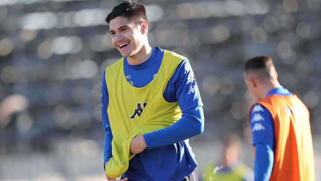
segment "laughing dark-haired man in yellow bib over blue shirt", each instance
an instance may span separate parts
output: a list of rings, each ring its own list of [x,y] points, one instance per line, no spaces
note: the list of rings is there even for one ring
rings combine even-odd
[[[102,76],[106,178],[197,181],[186,139],[203,132],[204,115],[189,61],[149,45],[142,4],[124,1],[106,22],[123,56]]]

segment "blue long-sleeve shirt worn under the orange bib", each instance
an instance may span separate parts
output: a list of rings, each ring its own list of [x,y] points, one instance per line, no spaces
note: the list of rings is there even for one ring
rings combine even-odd
[[[268,95],[291,96],[292,93],[282,86],[270,90]],[[274,161],[274,121],[269,110],[263,105],[256,104],[251,112],[251,127],[253,145],[255,146],[254,180],[268,181]]]

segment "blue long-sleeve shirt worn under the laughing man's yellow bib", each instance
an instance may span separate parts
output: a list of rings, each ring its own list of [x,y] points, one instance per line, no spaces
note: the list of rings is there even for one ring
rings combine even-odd
[[[124,59],[124,74],[134,87],[147,85],[156,76],[163,58],[163,51],[154,48],[151,57],[139,64],[130,65]],[[109,124],[108,90],[105,72],[102,76],[101,112],[104,141],[104,164],[111,157],[112,133]],[[178,102],[183,115],[175,124],[165,129],[143,135],[147,149],[137,154],[129,162],[123,177],[132,180],[182,180],[197,166],[189,144],[184,141],[204,130],[203,103],[188,60],[183,60],[170,78],[163,97],[168,102]],[[164,174],[166,173],[166,174]]]

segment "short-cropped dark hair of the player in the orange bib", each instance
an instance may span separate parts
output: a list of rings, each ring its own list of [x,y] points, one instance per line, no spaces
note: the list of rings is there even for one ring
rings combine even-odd
[[[248,59],[244,64],[245,73],[249,71],[263,72],[267,77],[271,77],[271,73],[275,71],[271,57],[261,55]]]

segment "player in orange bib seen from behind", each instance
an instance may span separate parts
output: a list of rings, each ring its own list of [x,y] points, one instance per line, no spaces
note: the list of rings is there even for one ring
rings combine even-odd
[[[250,109],[255,180],[314,181],[308,108],[278,82],[272,59],[247,60],[244,79],[259,100]]]

